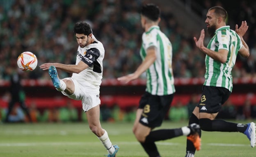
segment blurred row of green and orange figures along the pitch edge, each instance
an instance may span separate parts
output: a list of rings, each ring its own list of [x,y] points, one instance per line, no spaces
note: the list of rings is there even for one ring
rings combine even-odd
[[[200,94],[192,94],[189,102],[184,103],[177,101],[169,108],[169,112],[165,116],[166,121],[186,122],[195,106],[198,104]],[[137,104],[120,108],[118,104],[107,106],[101,104],[102,122],[134,122],[136,117]],[[6,122],[8,108],[0,108],[0,124]],[[15,105],[8,117],[9,123],[70,123],[70,122],[87,122],[85,112],[80,107],[75,107],[72,101],[67,101],[63,106],[52,106],[48,108],[38,108],[35,102],[29,107],[30,115],[23,112],[21,106]],[[29,117],[30,116],[30,117]],[[222,106],[217,118],[222,119],[255,119],[256,106],[251,103],[250,95],[248,95],[244,104],[240,106],[232,104],[230,100]]]

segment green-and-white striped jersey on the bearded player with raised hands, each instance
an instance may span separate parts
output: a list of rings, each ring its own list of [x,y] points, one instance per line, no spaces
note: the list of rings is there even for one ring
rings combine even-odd
[[[224,64],[206,55],[206,80],[203,85],[224,87],[232,92],[233,78],[231,70],[235,65],[238,51],[242,48],[242,41],[239,35],[231,30],[229,26],[220,27],[215,31],[207,48],[216,53],[218,53],[219,49],[226,49],[229,53]]]

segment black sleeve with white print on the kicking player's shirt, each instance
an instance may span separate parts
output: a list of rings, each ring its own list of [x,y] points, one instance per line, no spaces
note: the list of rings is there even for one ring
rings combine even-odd
[[[96,61],[100,55],[101,55],[101,53],[98,49],[96,49],[96,48],[88,49],[86,51],[85,56],[82,57],[82,62],[85,62],[85,64],[92,67],[94,61]]]

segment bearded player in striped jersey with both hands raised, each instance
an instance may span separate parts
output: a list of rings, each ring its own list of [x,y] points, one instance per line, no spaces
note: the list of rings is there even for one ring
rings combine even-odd
[[[243,40],[248,26],[243,21],[241,27],[235,26],[235,31],[226,26],[227,12],[224,8],[216,6],[206,14],[207,31],[211,35],[207,47],[203,45],[204,30],[199,39],[194,37],[196,46],[206,54],[206,74],[203,91],[199,104],[195,107],[189,124],[200,124],[204,131],[240,132],[250,140],[251,147],[255,146],[255,124],[237,124],[215,119],[222,104],[228,100],[232,92],[231,70],[235,64],[236,56],[249,57],[249,48]],[[200,133],[201,134],[201,133]],[[187,140],[186,156],[194,157],[195,149]]]

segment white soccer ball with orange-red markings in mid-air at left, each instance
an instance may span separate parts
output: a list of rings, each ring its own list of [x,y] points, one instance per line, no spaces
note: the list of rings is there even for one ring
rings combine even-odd
[[[18,56],[17,64],[23,71],[33,71],[37,67],[37,56],[32,52],[23,52]]]

